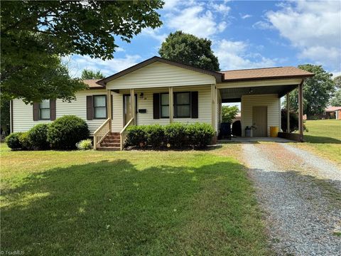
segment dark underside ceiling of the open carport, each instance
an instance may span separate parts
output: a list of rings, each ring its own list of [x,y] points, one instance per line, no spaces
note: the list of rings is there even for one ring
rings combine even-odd
[[[297,85],[224,88],[220,89],[220,95],[222,96],[222,102],[239,102],[242,95],[278,94],[278,97],[283,97],[296,88]]]

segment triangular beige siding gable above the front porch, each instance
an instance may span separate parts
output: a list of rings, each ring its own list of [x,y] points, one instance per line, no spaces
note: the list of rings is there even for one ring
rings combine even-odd
[[[215,84],[215,77],[166,63],[151,63],[107,82],[107,89],[138,89]]]

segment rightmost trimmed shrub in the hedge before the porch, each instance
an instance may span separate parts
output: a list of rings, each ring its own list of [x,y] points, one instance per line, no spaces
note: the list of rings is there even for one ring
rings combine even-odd
[[[210,124],[195,123],[188,124],[187,134],[190,145],[202,148],[210,144],[215,130]]]

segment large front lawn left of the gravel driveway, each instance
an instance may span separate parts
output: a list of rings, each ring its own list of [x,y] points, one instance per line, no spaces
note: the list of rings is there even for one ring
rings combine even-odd
[[[269,255],[244,166],[215,153],[9,151],[2,144],[1,250]]]

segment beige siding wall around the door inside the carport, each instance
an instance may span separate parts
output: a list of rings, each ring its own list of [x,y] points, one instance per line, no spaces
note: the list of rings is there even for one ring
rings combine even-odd
[[[281,105],[278,95],[243,95],[242,96],[242,135],[245,127],[252,125],[252,107],[267,107],[267,133],[270,136],[270,127],[280,127]]]

